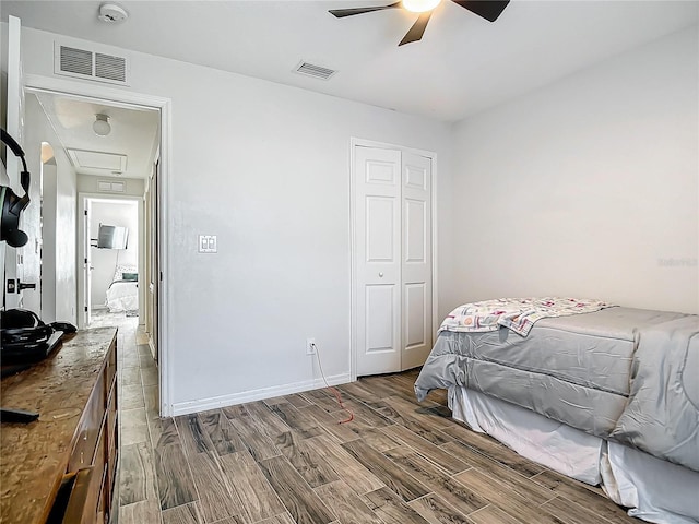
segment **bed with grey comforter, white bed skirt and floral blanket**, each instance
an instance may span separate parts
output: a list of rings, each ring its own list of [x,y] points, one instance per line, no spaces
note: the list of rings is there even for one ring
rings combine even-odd
[[[415,392],[632,516],[697,523],[698,376],[698,315],[499,299],[448,315]]]

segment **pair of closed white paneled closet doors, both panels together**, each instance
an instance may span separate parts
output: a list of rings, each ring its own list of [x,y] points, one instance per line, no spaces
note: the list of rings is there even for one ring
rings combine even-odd
[[[353,377],[422,366],[433,346],[435,155],[352,144]]]

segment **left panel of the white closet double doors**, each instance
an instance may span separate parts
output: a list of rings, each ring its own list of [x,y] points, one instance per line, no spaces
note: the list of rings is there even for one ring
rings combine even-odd
[[[401,152],[355,148],[357,374],[401,367]]]

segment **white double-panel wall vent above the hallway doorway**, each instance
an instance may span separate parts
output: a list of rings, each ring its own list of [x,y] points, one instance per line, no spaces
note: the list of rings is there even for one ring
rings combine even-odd
[[[126,57],[116,57],[76,47],[55,45],[54,72],[96,82],[128,85],[129,61]]]

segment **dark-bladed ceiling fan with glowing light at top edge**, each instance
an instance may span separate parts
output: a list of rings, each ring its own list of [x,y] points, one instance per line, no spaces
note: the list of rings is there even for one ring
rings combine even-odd
[[[467,9],[474,14],[495,22],[500,13],[505,10],[510,0],[451,0],[452,2]],[[405,34],[399,46],[417,41],[423,37],[427,22],[433,14],[434,9],[439,5],[441,0],[401,0],[388,5],[376,5],[372,8],[351,8],[351,9],[331,9],[330,14],[339,19],[352,16],[355,14],[371,13],[374,11],[383,11],[384,9],[405,9],[413,13],[419,13],[419,17]]]

